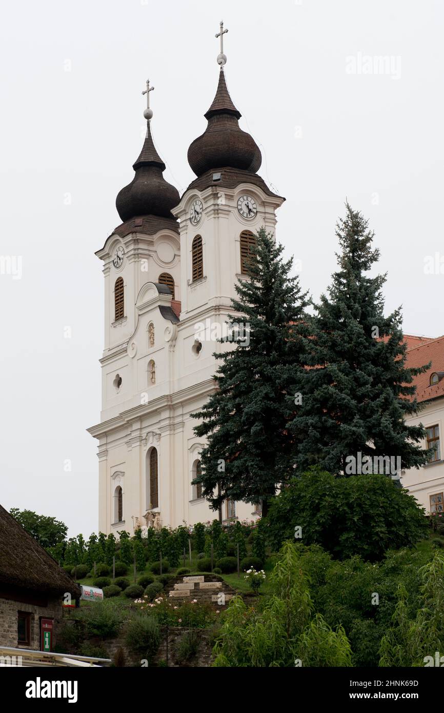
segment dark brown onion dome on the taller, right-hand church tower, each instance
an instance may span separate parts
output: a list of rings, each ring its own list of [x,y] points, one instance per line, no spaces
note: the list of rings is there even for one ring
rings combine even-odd
[[[188,163],[197,176],[224,167],[251,173],[259,170],[262,155],[252,136],[239,127],[241,116],[229,96],[221,66],[216,96],[205,114],[207,128],[188,149]]]

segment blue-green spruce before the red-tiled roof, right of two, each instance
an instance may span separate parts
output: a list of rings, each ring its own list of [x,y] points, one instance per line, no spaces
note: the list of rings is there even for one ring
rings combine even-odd
[[[339,270],[309,319],[312,368],[301,376],[301,404],[289,424],[293,434],[304,434],[296,442],[299,472],[318,464],[347,473],[347,457],[359,452],[399,456],[401,468],[428,461],[429,451],[418,446],[423,426],[405,422],[420,409],[413,377],[428,366],[406,368],[401,309],[384,316],[386,275],[368,275],[379,258],[373,235],[346,203],[346,217],[336,224]]]

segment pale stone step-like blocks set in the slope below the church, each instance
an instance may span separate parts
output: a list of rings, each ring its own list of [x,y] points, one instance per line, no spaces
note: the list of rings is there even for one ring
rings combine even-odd
[[[210,573],[178,577],[172,579],[167,587],[170,597],[180,602],[196,599],[200,604],[206,602],[216,607],[227,604],[235,595],[234,589],[222,577]]]

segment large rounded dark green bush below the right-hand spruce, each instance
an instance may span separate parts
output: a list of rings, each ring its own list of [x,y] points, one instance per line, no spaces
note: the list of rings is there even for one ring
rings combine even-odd
[[[361,555],[371,561],[389,548],[414,545],[427,532],[423,509],[388,476],[343,478],[314,469],[274,498],[259,528],[277,550],[284,540],[294,542],[297,526],[306,545],[318,543],[337,559]]]

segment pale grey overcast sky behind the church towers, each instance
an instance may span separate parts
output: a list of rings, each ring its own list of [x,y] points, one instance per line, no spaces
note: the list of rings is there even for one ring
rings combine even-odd
[[[103,275],[115,196],[143,143],[151,95],[165,178],[227,83],[286,197],[277,237],[319,298],[344,201],[363,212],[404,331],[444,333],[444,3],[438,0],[11,0],[1,19],[0,503],[98,527]],[[378,58],[386,58],[382,63]],[[14,274],[13,274],[14,273]],[[444,273],[444,266],[443,266]],[[66,338],[71,329],[71,338]],[[66,462],[71,461],[71,472]]]

